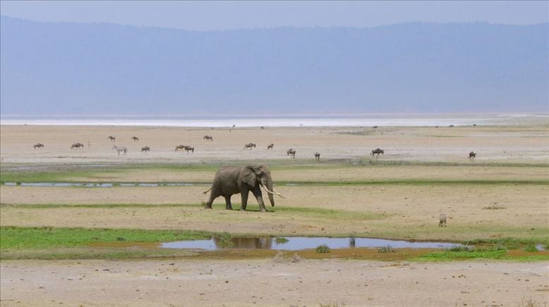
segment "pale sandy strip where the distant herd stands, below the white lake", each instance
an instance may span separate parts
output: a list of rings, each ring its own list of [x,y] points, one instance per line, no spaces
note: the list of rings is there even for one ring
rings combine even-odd
[[[203,139],[209,134],[214,142]],[[116,142],[107,137],[114,135]],[[137,136],[139,142],[131,137]],[[83,163],[83,162],[207,162],[296,157],[313,161],[315,151],[322,159],[360,158],[375,148],[385,149],[383,159],[396,161],[466,161],[476,151],[476,161],[548,163],[549,127],[291,127],[204,129],[186,127],[109,127],[109,126],[11,126],[0,129],[0,157],[4,163]],[[44,149],[32,149],[41,142]],[[84,149],[71,150],[80,142]],[[88,142],[92,146],[88,146]],[[243,149],[257,144],[252,151]],[[275,148],[267,150],[273,143]],[[112,146],[127,146],[127,156],[119,156]],[[195,153],[176,152],[185,144]],[[147,154],[142,146],[150,146]]]

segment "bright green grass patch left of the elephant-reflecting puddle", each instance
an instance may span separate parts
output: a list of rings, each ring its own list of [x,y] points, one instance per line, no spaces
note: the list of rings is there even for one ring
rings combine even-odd
[[[0,250],[54,249],[110,242],[170,242],[211,236],[211,232],[187,230],[0,227]]]

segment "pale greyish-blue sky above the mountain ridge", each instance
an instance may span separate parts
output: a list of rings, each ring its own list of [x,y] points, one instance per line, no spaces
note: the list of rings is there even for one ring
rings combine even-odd
[[[549,23],[549,1],[0,1],[1,15],[185,30]]]

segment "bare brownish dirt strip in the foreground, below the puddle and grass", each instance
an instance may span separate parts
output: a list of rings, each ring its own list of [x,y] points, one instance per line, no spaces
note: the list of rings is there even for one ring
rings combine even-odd
[[[547,306],[549,263],[2,261],[2,306]],[[529,303],[532,303],[529,305]],[[331,304],[331,305],[329,305]]]

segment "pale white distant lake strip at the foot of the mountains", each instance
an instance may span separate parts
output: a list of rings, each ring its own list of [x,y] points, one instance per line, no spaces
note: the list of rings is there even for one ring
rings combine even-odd
[[[447,127],[449,125],[514,125],[547,113],[529,114],[300,114],[300,115],[2,115],[1,125],[116,125],[167,127]]]

